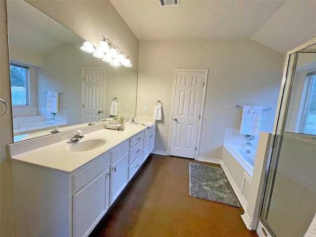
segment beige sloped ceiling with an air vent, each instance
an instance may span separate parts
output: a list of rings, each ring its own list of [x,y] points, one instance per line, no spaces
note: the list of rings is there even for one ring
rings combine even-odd
[[[278,52],[316,37],[316,0],[111,0],[139,40],[253,39]]]

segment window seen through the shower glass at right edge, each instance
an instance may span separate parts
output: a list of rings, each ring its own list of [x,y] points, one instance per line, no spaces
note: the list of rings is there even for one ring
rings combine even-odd
[[[307,97],[302,119],[302,133],[316,135],[316,71],[306,75]]]

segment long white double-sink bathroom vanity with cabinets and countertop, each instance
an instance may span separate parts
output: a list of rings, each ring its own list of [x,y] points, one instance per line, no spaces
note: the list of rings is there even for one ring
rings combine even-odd
[[[9,145],[17,236],[91,233],[155,145],[155,125],[124,126],[82,129],[84,138],[73,144],[66,143],[69,132],[39,140],[40,145],[35,139]]]

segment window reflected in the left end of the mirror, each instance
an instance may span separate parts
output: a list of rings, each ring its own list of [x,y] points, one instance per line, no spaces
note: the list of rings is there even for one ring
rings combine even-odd
[[[10,63],[12,105],[29,105],[29,72],[28,66]]]

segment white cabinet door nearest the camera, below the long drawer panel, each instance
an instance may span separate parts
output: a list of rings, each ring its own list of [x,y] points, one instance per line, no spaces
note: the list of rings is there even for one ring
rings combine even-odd
[[[109,169],[73,196],[73,236],[88,236],[109,207]]]

